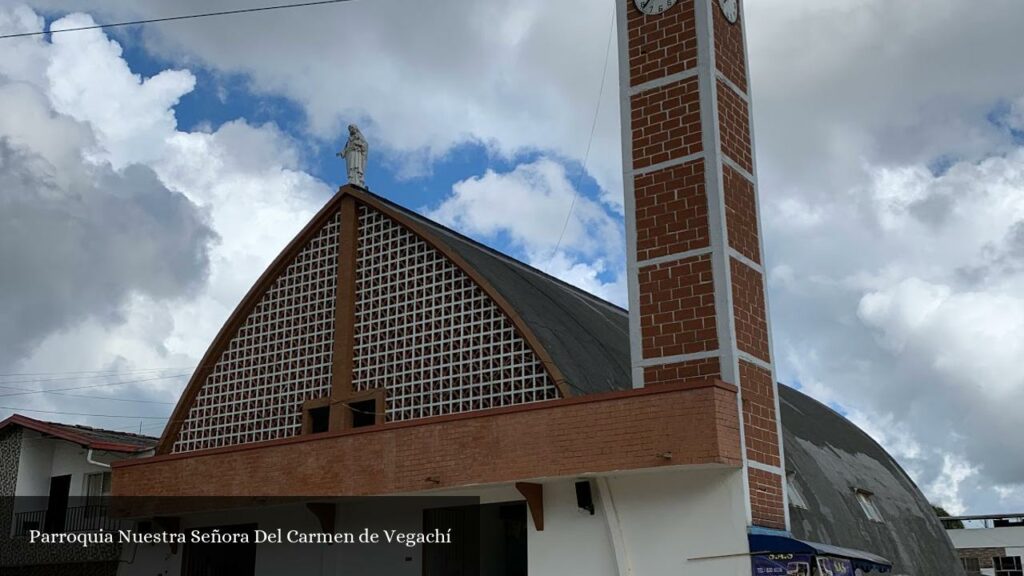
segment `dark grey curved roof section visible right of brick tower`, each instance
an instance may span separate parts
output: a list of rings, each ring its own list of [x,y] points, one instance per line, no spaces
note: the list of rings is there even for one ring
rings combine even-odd
[[[893,574],[959,570],[931,504],[885,449],[809,396],[778,390],[787,472],[807,502],[790,506],[797,538],[869,550],[892,561]],[[870,493],[883,522],[867,519],[857,490]]]

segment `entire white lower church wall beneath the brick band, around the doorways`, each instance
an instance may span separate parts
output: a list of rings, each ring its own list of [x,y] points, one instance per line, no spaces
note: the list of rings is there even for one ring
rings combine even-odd
[[[577,505],[577,480],[542,483],[544,531],[536,530],[527,512],[530,576],[750,575],[739,470],[675,468],[609,476],[604,479],[606,491],[598,489],[597,481],[594,483],[593,516]],[[472,495],[481,503],[522,500],[510,485],[431,495]],[[426,504],[415,499],[349,501],[337,508],[335,530],[359,532],[369,527],[419,531]],[[286,532],[293,528],[319,531],[312,513],[302,505],[186,517],[182,530],[248,523],[257,523],[262,529],[281,527]],[[137,550],[129,545],[122,552],[124,562],[119,574],[176,576],[181,553],[180,547],[172,556],[166,545],[139,546]],[[133,556],[134,562],[127,564]],[[420,547],[385,544],[262,545],[257,548],[256,564],[259,576],[422,574]]]

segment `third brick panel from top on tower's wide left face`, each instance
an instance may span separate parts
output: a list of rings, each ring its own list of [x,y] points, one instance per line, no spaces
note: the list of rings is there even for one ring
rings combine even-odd
[[[638,260],[709,245],[703,160],[638,175],[633,188]]]

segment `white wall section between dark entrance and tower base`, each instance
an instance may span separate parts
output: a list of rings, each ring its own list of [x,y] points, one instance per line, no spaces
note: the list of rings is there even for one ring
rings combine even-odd
[[[577,507],[573,481],[545,484],[545,530],[530,531],[530,576],[611,576],[620,566],[633,576],[750,575],[739,470],[674,469],[606,481],[604,501],[595,488],[593,517]],[[728,554],[735,556],[709,558]]]

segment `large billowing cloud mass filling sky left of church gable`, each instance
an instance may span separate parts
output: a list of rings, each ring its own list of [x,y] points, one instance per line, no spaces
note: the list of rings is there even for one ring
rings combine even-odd
[[[54,26],[90,22],[73,15]],[[0,26],[39,24],[24,8],[0,8]],[[272,125],[234,121],[213,132],[178,131],[173,107],[193,88],[190,73],[143,80],[98,31],[53,38],[9,41],[13,49],[0,53],[0,260],[15,272],[0,279],[0,365],[122,371],[115,380],[138,368],[167,371],[95,388],[97,401],[31,395],[10,404],[166,414],[169,407],[159,404],[98,399],[176,400],[183,378],[153,376],[195,365],[331,191],[298,169],[293,142]],[[45,77],[11,61],[26,54]],[[159,431],[146,422],[147,431]],[[137,420],[93,423],[134,427]]]

